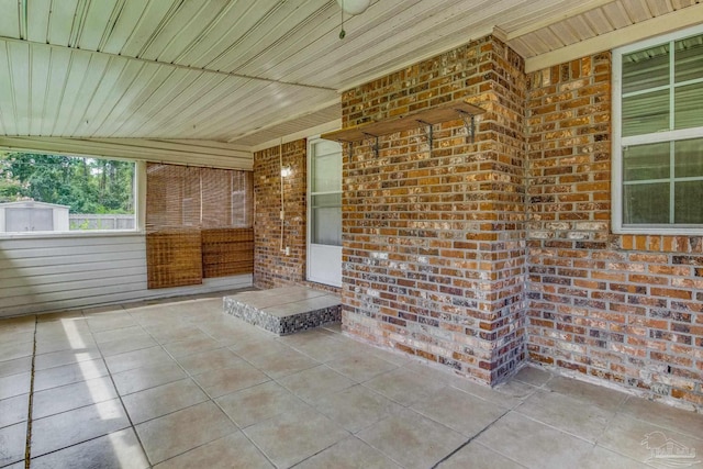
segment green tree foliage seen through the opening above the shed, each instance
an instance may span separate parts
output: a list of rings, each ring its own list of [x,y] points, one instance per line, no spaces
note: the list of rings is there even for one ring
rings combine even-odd
[[[70,213],[134,213],[134,164],[32,153],[0,153],[0,202],[35,200]]]

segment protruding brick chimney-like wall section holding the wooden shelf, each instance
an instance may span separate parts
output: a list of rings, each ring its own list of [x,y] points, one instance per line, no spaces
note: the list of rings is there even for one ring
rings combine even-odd
[[[462,121],[344,155],[344,330],[494,383],[524,359],[524,93],[489,36],[343,94],[353,126],[467,99]]]

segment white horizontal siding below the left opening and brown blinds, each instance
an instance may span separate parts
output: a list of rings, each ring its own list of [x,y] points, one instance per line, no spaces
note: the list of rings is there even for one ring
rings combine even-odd
[[[143,234],[0,239],[0,317],[208,293],[252,286],[252,276],[146,288]]]

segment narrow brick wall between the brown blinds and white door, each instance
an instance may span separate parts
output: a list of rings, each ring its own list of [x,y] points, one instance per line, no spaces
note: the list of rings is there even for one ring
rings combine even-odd
[[[283,144],[282,165],[292,175],[283,178],[286,221],[281,247],[281,163],[279,147],[254,154],[254,284],[275,288],[305,279],[305,141]]]

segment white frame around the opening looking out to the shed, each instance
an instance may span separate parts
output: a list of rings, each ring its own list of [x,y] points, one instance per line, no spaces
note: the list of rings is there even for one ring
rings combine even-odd
[[[134,164],[134,228],[133,230],[74,230],[74,231],[51,231],[51,232],[0,232],[0,239],[15,238],[59,238],[59,237],[96,237],[96,236],[130,236],[144,235],[146,223],[146,161],[133,158],[121,158],[115,156],[89,155],[85,153],[47,152],[32,148],[12,148],[0,146],[7,152],[36,153],[43,155],[62,155],[79,158],[96,158],[122,160]]]

